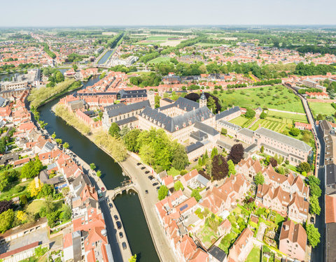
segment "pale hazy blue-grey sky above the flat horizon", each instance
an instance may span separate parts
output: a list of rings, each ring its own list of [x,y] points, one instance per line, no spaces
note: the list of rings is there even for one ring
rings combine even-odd
[[[335,0],[0,0],[0,27],[336,24]]]

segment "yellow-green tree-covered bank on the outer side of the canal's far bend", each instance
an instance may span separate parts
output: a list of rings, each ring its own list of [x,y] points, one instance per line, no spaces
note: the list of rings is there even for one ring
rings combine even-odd
[[[81,86],[80,81],[74,79],[66,79],[64,82],[60,82],[55,87],[40,87],[31,90],[28,101],[30,101],[31,107],[38,108],[43,103],[48,103],[52,99],[66,94],[74,89],[78,89]]]

